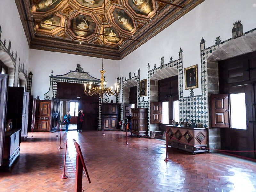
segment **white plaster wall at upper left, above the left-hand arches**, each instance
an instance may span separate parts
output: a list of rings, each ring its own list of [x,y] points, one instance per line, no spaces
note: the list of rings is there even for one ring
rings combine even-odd
[[[24,68],[27,69],[29,46],[14,0],[0,0],[0,25],[2,25],[1,40],[4,42],[4,39],[6,39],[7,48],[9,40],[11,40],[11,53],[13,51],[15,55],[15,52],[17,51],[17,66],[15,76],[17,86],[19,57],[20,63],[24,63]]]

